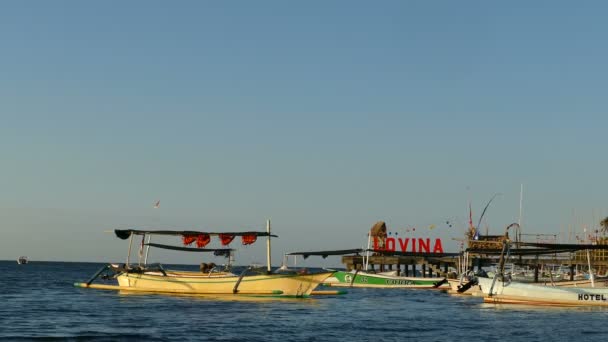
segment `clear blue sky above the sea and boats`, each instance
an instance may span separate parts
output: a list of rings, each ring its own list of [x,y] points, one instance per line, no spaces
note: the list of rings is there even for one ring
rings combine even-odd
[[[3,2],[0,259],[120,261],[104,231],[266,219],[276,263],[362,247],[377,220],[456,251],[468,202],[476,221],[501,194],[482,224],[498,234],[520,184],[525,232],[597,226],[607,15],[603,1]]]

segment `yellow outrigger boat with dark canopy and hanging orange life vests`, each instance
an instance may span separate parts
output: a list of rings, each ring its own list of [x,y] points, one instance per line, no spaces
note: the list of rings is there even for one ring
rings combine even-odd
[[[75,283],[76,287],[111,289],[132,292],[154,292],[172,294],[195,294],[195,295],[253,295],[272,297],[307,297],[333,272],[308,274],[303,272],[280,272],[273,273],[270,264],[270,238],[276,235],[270,234],[270,221],[266,232],[232,232],[232,233],[209,233],[199,231],[153,231],[153,230],[115,230],[117,237],[129,239],[129,253],[124,265],[110,264],[100,269],[91,279],[85,283]],[[142,236],[142,246],[146,246],[145,258],[137,265],[130,264],[131,245],[133,237]],[[181,246],[162,245],[151,243],[153,235],[182,236],[184,242],[196,241],[197,246],[204,247],[210,237],[219,236],[222,243],[226,245],[236,236],[243,239],[243,244],[255,242],[257,237],[267,237],[267,267],[263,270],[247,267],[240,274],[234,274],[229,270],[216,271],[214,268],[195,271],[172,271],[164,269],[160,264],[147,265],[148,251],[150,247],[165,248],[188,252],[213,252],[216,255],[229,256],[231,249],[206,249],[190,248]],[[226,239],[226,240],[224,240]],[[147,241],[144,243],[144,241]],[[93,283],[98,277],[103,279],[116,279],[118,285],[107,285]]]

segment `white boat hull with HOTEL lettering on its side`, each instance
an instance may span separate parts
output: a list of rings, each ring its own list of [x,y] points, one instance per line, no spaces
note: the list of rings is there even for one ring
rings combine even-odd
[[[550,306],[608,306],[608,288],[554,287],[479,278],[484,302]],[[492,291],[490,293],[490,288]]]

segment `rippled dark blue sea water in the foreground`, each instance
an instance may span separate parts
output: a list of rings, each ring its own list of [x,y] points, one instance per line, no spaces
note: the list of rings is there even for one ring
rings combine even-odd
[[[605,341],[608,309],[483,304],[437,290],[230,299],[81,289],[103,264],[0,261],[0,340]]]

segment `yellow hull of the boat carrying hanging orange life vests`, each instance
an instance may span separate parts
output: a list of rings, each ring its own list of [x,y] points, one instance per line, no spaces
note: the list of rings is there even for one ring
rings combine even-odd
[[[197,272],[121,273],[121,289],[183,294],[248,294],[306,297],[332,272],[317,274],[208,275]]]

